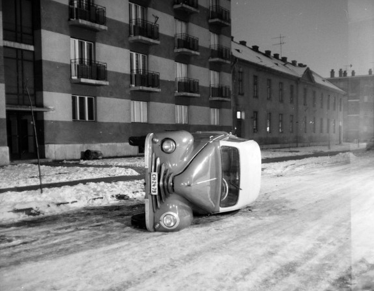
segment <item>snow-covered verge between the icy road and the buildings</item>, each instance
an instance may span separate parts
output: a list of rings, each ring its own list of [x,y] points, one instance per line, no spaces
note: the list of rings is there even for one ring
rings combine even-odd
[[[365,148],[361,144],[360,148]],[[327,151],[359,149],[356,144],[311,146],[262,150],[262,158],[295,156]],[[352,155],[351,155],[352,157]],[[293,169],[313,168],[313,165],[347,160],[348,154],[331,158],[307,158],[299,161],[263,164],[263,173],[282,173]],[[66,166],[64,166],[66,165]],[[77,166],[74,166],[77,165]],[[81,167],[78,165],[85,165]],[[92,167],[89,167],[91,165]],[[87,167],[86,167],[87,166]],[[102,166],[102,167],[100,167]],[[102,206],[118,203],[119,200],[144,198],[144,177],[136,169],[144,167],[143,157],[104,158],[98,160],[64,161],[61,166],[41,166],[42,184],[86,180],[101,177],[139,176],[131,181],[114,183],[85,183],[75,186],[45,188],[32,191],[7,191],[0,193],[0,221],[16,221],[30,215],[51,215],[85,206]],[[14,164],[0,167],[0,190],[20,186],[39,185],[39,171],[36,164]],[[24,212],[22,210],[29,210]],[[30,212],[31,210],[31,212]]]

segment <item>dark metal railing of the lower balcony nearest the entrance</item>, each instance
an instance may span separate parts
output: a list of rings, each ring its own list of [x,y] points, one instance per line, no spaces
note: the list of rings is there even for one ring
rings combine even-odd
[[[71,68],[72,78],[98,81],[107,80],[106,63],[75,59],[71,61]]]

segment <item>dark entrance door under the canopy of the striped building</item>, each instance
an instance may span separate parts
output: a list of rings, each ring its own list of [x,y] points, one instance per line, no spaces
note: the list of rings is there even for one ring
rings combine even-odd
[[[37,157],[30,112],[7,112],[6,132],[10,160],[33,159]]]

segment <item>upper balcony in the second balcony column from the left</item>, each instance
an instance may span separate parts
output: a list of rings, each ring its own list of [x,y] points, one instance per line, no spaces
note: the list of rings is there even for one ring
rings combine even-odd
[[[130,21],[129,42],[141,42],[148,45],[159,44],[158,24],[137,18]]]

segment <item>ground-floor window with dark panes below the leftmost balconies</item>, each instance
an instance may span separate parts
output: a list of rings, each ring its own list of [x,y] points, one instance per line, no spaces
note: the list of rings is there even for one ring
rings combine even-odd
[[[72,95],[72,109],[73,120],[95,120],[94,97]]]

